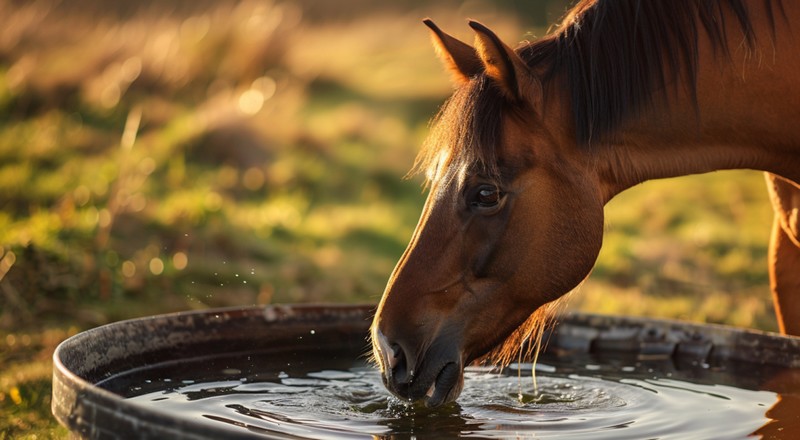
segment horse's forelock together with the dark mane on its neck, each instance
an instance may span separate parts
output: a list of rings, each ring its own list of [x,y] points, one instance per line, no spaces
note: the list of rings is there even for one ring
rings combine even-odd
[[[775,38],[782,0],[762,0]],[[571,95],[575,137],[581,145],[601,143],[621,122],[647,108],[655,93],[682,79],[696,94],[698,39],[704,31],[717,56],[730,57],[727,13],[735,17],[751,50],[756,35],[749,7],[755,0],[581,0],[548,36],[517,49],[547,90],[556,77]],[[464,166],[497,176],[495,146],[502,115],[511,104],[485,74],[459,87],[442,106],[412,172],[428,180]]]

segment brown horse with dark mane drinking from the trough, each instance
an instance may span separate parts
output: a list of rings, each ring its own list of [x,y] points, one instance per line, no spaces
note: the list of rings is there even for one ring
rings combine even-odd
[[[535,339],[588,276],[612,197],[713,170],[767,172],[775,308],[800,334],[800,2],[584,0],[516,50],[474,21],[474,47],[425,23],[456,90],[372,326],[389,390],[454,400],[465,365]]]

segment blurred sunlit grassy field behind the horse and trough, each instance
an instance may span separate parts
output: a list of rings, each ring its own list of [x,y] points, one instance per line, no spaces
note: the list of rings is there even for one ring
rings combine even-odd
[[[514,45],[567,0],[0,0],[0,440],[63,437],[50,357],[120,319],[376,303],[451,91],[424,17]],[[760,173],[607,207],[569,308],[775,330]]]

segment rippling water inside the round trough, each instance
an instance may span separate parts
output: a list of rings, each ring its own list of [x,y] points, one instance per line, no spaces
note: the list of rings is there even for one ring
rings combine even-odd
[[[343,353],[262,353],[140,369],[101,387],[176,418],[306,438],[727,439],[798,434],[800,405],[763,383],[779,371],[670,360],[559,358],[498,372],[470,368],[454,404],[392,397]],[[781,406],[783,405],[783,408]],[[786,407],[790,405],[790,407]],[[768,412],[770,415],[768,415]],[[784,419],[775,414],[786,414]]]

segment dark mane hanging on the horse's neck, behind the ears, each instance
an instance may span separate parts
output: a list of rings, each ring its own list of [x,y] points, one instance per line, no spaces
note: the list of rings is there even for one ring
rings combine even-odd
[[[773,28],[773,0],[763,0]],[[570,90],[579,144],[602,141],[620,122],[650,104],[656,91],[682,76],[696,94],[701,29],[717,55],[730,57],[726,9],[748,50],[756,42],[745,0],[582,0],[557,31],[517,51],[545,66],[546,84],[563,74]],[[783,6],[777,0],[783,13]]]

